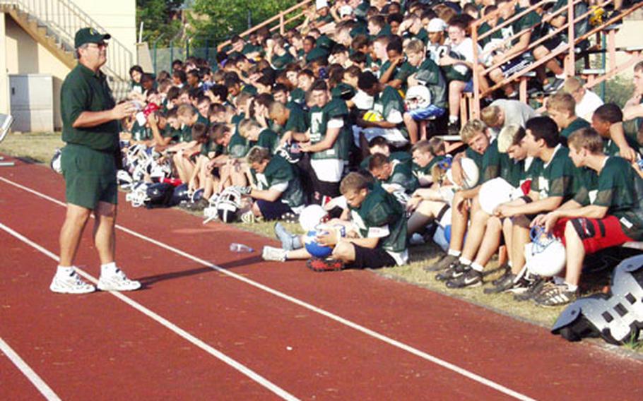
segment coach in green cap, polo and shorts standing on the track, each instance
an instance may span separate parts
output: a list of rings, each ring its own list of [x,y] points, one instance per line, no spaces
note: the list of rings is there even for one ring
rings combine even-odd
[[[93,237],[100,258],[98,289],[128,291],[141,283],[129,280],[114,262],[119,163],[119,120],[133,114],[134,104],[114,103],[100,67],[107,61],[110,35],[91,28],[76,32],[74,47],[78,65],[61,88],[63,121],[61,167],[65,178],[67,213],[60,231],[60,265],[53,292],[85,294],[95,290],[73,269],[85,224],[94,213]]]

